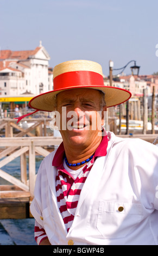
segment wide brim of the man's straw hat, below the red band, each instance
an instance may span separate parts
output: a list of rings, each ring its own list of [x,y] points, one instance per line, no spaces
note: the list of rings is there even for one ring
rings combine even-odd
[[[87,88],[87,89],[97,89],[101,90],[105,93],[105,102],[106,107],[113,107],[119,105],[130,99],[131,93],[128,90],[118,88],[118,87],[110,87],[110,86],[75,86],[68,87],[59,90],[52,90],[47,93],[43,93],[33,97],[29,101],[29,107],[38,109],[40,111],[55,111],[55,96],[63,92],[64,90],[69,89],[78,89],[78,88]]]

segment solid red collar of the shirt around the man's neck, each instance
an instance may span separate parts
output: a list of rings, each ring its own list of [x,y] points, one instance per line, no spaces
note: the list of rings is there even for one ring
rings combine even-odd
[[[94,158],[98,156],[106,156],[107,154],[107,147],[108,147],[108,136],[105,135],[102,137],[102,141],[100,142],[96,152],[94,153]],[[59,148],[56,150],[56,153],[53,157],[52,166],[59,167],[64,159],[65,156],[65,149],[63,142],[59,145]]]

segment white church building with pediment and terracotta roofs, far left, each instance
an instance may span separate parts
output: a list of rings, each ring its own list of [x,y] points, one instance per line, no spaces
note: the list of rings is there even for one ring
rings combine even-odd
[[[1,50],[0,95],[33,95],[53,89],[50,56],[41,42],[31,51]]]

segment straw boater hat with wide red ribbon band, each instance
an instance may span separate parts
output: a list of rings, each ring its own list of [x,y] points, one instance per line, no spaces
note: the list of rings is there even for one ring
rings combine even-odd
[[[121,104],[131,97],[128,90],[104,86],[102,66],[89,60],[71,60],[56,65],[53,69],[53,85],[54,90],[33,97],[29,106],[41,111],[54,111],[56,94],[75,88],[102,90],[107,107]]]

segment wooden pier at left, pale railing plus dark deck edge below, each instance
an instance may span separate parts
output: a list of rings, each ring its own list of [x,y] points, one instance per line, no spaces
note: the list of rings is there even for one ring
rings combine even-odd
[[[47,156],[51,151],[48,147],[59,145],[61,142],[62,138],[50,136],[0,138],[0,177],[9,182],[9,185],[0,185],[0,219],[29,216],[29,204],[34,197],[36,180],[35,157]],[[26,155],[29,157],[28,178]],[[20,180],[1,169],[18,156],[21,159]]]

